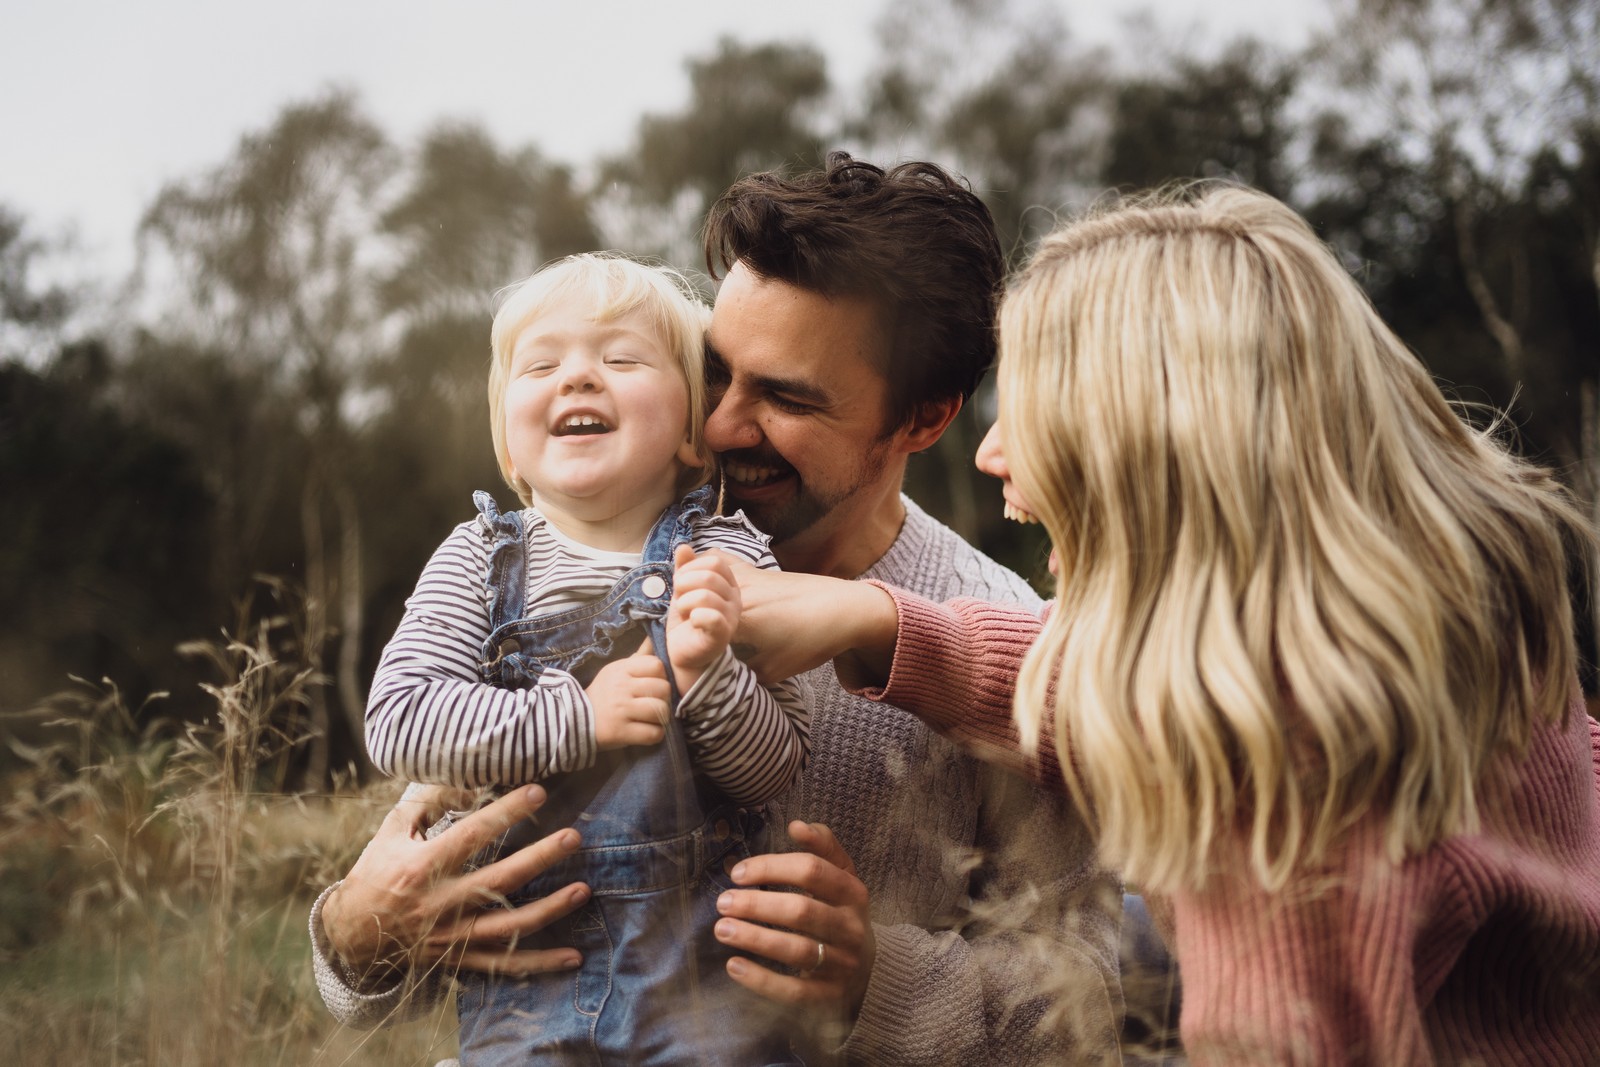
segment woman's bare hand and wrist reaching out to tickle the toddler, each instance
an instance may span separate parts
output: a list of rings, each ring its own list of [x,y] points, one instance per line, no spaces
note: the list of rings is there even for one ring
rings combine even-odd
[[[835,661],[848,688],[882,686],[894,661],[894,600],[867,582],[730,560],[742,611],[733,651],[763,683]]]

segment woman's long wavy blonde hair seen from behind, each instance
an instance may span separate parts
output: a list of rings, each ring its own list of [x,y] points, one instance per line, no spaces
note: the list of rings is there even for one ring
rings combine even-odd
[[[1267,888],[1370,811],[1395,859],[1477,825],[1566,707],[1560,486],[1477,432],[1310,227],[1189,187],[1051,234],[1000,314],[1002,435],[1059,558],[1018,680],[1147,888],[1245,843]],[[1222,851],[1219,851],[1222,849]]]

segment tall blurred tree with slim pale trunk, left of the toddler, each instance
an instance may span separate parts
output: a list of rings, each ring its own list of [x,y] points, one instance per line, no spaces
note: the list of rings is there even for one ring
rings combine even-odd
[[[376,304],[381,192],[395,171],[384,134],[347,94],[285,109],[248,134],[213,171],[162,190],[141,224],[141,270],[174,283],[162,328],[221,346],[253,363],[293,408],[306,467],[299,501],[306,565],[306,649],[322,664],[338,638],[338,704],[363,736],[358,677],[365,630],[362,509],[357,502],[354,419],[358,368],[379,346]],[[272,453],[280,442],[246,448]],[[250,485],[224,486],[232,498]],[[232,499],[227,518],[246,509]],[[229,536],[227,528],[221,536]],[[326,776],[328,709],[310,691],[307,781]],[[360,752],[360,749],[357,749]],[[365,755],[358,757],[365,761]]]

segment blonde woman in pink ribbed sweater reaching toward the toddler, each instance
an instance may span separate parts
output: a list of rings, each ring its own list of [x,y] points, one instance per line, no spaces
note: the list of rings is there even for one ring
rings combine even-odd
[[[1190,1062],[1600,1062],[1594,541],[1555,482],[1242,189],[1062,227],[1000,331],[979,467],[1053,609],[752,581],[762,672],[837,656],[1066,789],[1165,904]]]

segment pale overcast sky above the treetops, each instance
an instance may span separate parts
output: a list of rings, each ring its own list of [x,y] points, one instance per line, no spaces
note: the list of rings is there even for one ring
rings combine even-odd
[[[131,264],[163,182],[330,85],[354,88],[402,142],[443,117],[506,146],[584,163],[688,98],[683,59],[718,37],[811,40],[835,86],[877,54],[886,0],[8,0],[0,34],[0,203],[43,235],[75,232],[98,269]],[[1154,10],[1208,38],[1299,43],[1323,0],[1056,0],[1080,40]]]

